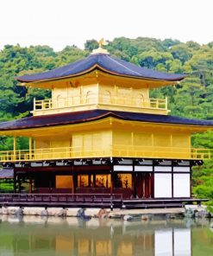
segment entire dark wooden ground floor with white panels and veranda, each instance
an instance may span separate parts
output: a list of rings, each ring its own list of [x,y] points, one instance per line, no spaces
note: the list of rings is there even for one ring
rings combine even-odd
[[[10,202],[67,207],[180,207],[183,202],[197,202],[191,199],[191,167],[202,163],[135,158],[15,163],[15,194]]]

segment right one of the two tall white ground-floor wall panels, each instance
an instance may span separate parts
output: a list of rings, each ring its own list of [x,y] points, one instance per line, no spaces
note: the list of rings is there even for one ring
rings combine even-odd
[[[174,173],[173,174],[173,196],[190,197],[190,174]]]

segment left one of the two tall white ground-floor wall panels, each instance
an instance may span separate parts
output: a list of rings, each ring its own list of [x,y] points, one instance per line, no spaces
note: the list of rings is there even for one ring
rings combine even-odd
[[[154,174],[154,197],[172,197],[172,174]]]

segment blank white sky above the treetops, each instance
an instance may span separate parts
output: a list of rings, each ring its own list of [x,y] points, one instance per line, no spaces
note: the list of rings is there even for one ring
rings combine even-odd
[[[0,48],[138,36],[213,41],[213,0],[0,0]]]

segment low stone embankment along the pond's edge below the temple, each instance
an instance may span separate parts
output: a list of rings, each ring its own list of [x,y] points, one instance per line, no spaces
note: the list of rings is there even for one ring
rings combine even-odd
[[[37,215],[37,216],[59,216],[59,217],[99,217],[120,218],[131,220],[132,218],[150,219],[153,215],[165,215],[166,218],[179,217],[213,217],[204,206],[185,205],[185,208],[148,208],[148,209],[103,209],[100,208],[39,208],[39,207],[2,207],[0,214],[9,215]]]

